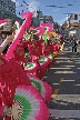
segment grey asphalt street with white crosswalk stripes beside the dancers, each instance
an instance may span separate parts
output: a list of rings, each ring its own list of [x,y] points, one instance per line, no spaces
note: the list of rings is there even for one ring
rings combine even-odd
[[[53,90],[48,103],[50,120],[80,120],[80,46],[74,54],[67,43],[46,72],[44,81]]]

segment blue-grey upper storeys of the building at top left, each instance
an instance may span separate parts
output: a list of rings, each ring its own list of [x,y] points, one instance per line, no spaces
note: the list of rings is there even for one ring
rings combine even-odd
[[[16,14],[16,2],[11,0],[0,0],[0,19],[19,20],[21,18]]]

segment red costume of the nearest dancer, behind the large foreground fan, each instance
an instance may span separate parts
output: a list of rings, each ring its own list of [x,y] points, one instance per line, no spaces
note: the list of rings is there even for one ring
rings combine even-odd
[[[4,58],[0,60],[7,61]],[[6,106],[12,104],[16,87],[18,84],[31,84],[27,73],[14,59],[10,59],[4,64],[0,66],[0,94]]]

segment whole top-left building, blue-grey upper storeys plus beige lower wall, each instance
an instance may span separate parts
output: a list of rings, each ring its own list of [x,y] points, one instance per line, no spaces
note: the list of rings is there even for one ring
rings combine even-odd
[[[0,0],[0,19],[8,19],[8,23],[3,26],[2,31],[10,31],[14,21],[23,21],[17,17],[16,2],[11,0]]]

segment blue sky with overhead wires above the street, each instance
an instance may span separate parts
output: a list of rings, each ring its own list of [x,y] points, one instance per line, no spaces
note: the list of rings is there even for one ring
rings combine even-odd
[[[16,2],[17,12],[21,12],[22,10],[33,11],[40,9],[43,16],[52,16],[56,22],[60,24],[63,23],[66,19],[66,13],[80,13],[80,0],[24,0],[26,3],[29,4],[28,9],[27,6],[23,3],[23,0],[12,0]],[[21,4],[23,7],[21,7]],[[72,6],[68,6],[72,4]],[[47,7],[47,6],[58,6],[58,7],[66,7],[66,8],[54,8],[54,7]],[[79,16],[80,20],[80,16]]]

